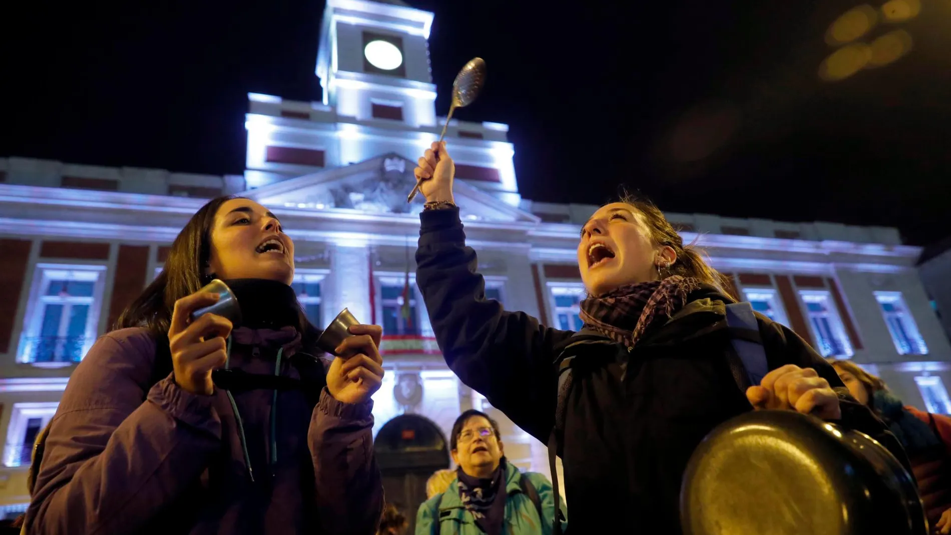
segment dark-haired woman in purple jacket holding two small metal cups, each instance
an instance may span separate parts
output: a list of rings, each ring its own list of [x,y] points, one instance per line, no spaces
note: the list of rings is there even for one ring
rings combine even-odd
[[[375,534],[380,328],[353,328],[343,357],[323,361],[293,277],[274,214],[247,199],[205,204],[69,378],[27,533]],[[190,319],[216,302],[200,291],[212,278],[237,297],[240,326]],[[231,387],[213,380],[219,369]],[[262,376],[270,386],[255,386]]]

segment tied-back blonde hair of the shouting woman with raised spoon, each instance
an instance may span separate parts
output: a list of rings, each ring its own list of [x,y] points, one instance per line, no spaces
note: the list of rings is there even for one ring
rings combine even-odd
[[[680,237],[676,229],[670,224],[670,221],[664,217],[652,202],[638,199],[629,193],[621,195],[621,202],[633,206],[644,219],[644,223],[650,230],[650,238],[658,245],[667,245],[677,255],[677,259],[668,266],[668,276],[679,275],[682,277],[694,277],[700,282],[713,286],[721,293],[736,299],[730,290],[731,285],[727,283],[727,277],[724,277],[715,269],[710,267],[706,260],[707,253],[694,243],[684,245],[684,239]]]

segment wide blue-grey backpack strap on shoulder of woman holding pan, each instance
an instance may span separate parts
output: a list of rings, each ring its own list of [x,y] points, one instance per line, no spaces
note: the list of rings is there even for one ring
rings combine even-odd
[[[740,391],[759,385],[769,372],[767,353],[760,338],[759,322],[748,302],[730,303],[727,309],[727,327],[735,355],[729,355],[729,368]]]

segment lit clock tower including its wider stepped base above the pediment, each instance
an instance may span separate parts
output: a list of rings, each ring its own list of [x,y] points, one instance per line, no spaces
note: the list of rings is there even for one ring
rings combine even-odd
[[[382,172],[405,174],[391,177],[396,182],[389,197],[409,193],[417,158],[437,140],[445,121],[436,113],[429,63],[433,18],[432,12],[401,0],[327,0],[315,69],[322,102],[248,94],[247,185],[257,188],[302,176],[329,183],[359,174],[358,163],[372,166],[371,161],[381,159]],[[477,107],[457,115],[471,117]],[[506,124],[454,119],[446,142],[456,161],[457,182],[517,207],[521,197],[508,129]],[[383,182],[367,183],[380,188]],[[420,201],[413,209],[421,209]],[[338,200],[332,205],[350,204]]]

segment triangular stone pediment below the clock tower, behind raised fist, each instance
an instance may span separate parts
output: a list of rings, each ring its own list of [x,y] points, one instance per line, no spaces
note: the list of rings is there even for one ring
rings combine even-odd
[[[244,193],[265,206],[355,210],[372,214],[418,214],[423,197],[406,196],[416,184],[416,162],[386,154],[365,162],[275,182]],[[455,182],[456,203],[470,220],[537,221],[526,211],[463,182]]]

